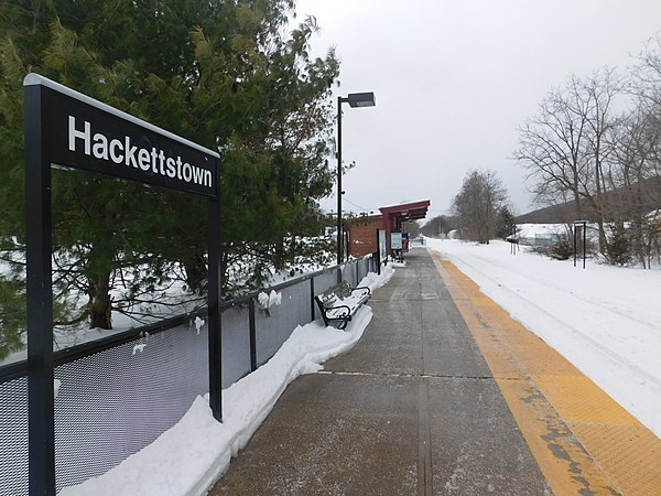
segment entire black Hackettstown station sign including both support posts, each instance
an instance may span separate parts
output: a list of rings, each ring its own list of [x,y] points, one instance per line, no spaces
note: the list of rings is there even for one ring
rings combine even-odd
[[[219,155],[37,74],[23,80],[30,494],[55,495],[51,169],[207,197],[209,406],[221,420]]]

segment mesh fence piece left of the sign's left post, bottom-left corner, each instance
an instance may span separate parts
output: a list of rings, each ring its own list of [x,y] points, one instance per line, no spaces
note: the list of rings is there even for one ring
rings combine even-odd
[[[0,494],[28,496],[28,377],[0,384]]]

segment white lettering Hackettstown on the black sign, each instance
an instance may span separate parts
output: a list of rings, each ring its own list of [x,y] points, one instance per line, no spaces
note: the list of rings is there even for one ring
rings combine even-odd
[[[77,144],[88,157],[112,161],[140,169],[145,173],[160,174],[186,183],[212,187],[212,172],[207,169],[184,162],[181,157],[166,157],[163,150],[152,147],[151,150],[132,144],[131,137],[108,139],[100,132],[91,133],[91,123],[84,121],[83,129],[76,128],[76,118],[68,116],[68,149],[76,152]]]

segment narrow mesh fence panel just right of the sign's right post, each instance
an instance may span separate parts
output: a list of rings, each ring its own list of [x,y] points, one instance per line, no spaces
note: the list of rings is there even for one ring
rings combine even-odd
[[[225,389],[250,374],[250,315],[248,308],[232,306],[225,310],[220,328],[223,388]]]

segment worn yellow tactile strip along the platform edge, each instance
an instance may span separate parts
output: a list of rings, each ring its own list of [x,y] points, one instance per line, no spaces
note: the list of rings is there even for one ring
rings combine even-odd
[[[430,254],[553,493],[661,495],[661,440]]]

